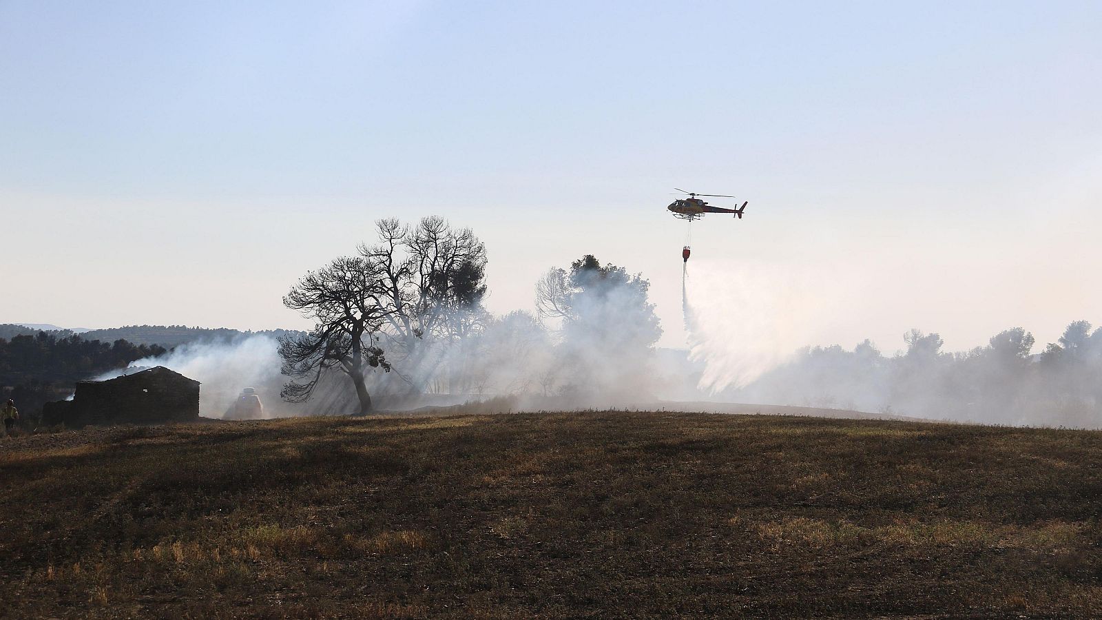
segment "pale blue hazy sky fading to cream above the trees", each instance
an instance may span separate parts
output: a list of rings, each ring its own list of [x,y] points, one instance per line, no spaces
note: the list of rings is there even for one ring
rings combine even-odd
[[[439,214],[491,310],[592,253],[682,346],[678,186],[750,202],[693,267],[802,282],[823,343],[1042,345],[1102,323],[1100,33],[1100,2],[0,0],[0,322],[305,327],[299,276]]]

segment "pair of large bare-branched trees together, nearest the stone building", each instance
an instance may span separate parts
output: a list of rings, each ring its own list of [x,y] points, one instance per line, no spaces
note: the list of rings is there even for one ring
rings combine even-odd
[[[349,377],[360,413],[371,409],[374,368],[393,370],[414,393],[430,384],[454,391],[467,336],[485,314],[486,247],[440,217],[415,226],[379,220],[376,229],[376,244],[311,271],[283,298],[315,321],[309,334],[280,342],[283,373],[293,377],[285,399],[309,399],[327,368]]]

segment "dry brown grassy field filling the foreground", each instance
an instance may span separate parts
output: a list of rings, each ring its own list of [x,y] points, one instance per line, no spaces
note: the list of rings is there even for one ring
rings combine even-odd
[[[1102,432],[581,413],[0,443],[4,617],[1102,614]]]

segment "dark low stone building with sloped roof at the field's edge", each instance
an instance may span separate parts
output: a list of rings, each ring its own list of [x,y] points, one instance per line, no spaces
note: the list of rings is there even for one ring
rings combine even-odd
[[[199,419],[199,382],[155,366],[107,381],[82,381],[72,400],[47,403],[45,425],[166,424]]]

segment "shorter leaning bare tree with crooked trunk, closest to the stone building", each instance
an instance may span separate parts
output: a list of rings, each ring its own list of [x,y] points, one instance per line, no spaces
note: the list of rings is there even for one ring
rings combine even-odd
[[[378,265],[364,257],[343,257],[306,274],[283,298],[283,304],[313,319],[304,335],[280,339],[282,372],[293,377],[281,393],[292,403],[310,398],[322,373],[336,368],[356,387],[359,413],[371,410],[366,375],[372,368],[390,372],[379,346],[379,330],[395,313],[380,303],[386,296]]]

